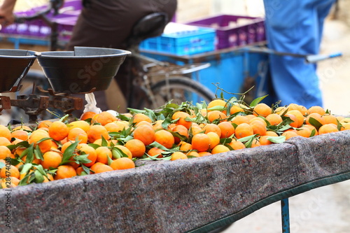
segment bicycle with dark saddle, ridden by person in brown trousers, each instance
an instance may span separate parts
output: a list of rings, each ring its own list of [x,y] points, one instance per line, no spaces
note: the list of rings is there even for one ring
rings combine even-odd
[[[62,6],[60,2],[62,0],[51,0],[48,8],[45,10],[41,10],[29,17],[18,17],[16,19],[16,22],[26,22],[26,20],[44,18],[52,30],[50,50],[62,48],[62,43],[60,43],[62,41],[58,41],[57,23],[50,22],[50,18],[45,15],[52,10],[58,13],[58,8]],[[125,95],[128,108],[155,109],[169,101],[176,104],[181,104],[183,101],[193,101],[194,103],[200,101],[209,102],[215,97],[214,93],[207,87],[188,77],[201,69],[207,68],[209,63],[180,66],[168,62],[160,62],[157,59],[140,54],[139,44],[141,41],[149,37],[160,36],[166,26],[166,22],[167,15],[164,13],[146,15],[134,25],[132,34],[127,40],[127,48],[129,48],[127,50],[132,52],[132,55],[127,58],[130,60],[130,66],[128,66],[129,88],[127,88],[127,94]],[[65,32],[65,35],[67,34]],[[42,72],[29,70],[23,80],[23,83],[28,82],[36,84],[33,87],[27,87],[25,90],[22,90],[20,94],[45,94],[42,92],[43,88],[38,89],[35,86],[50,88],[50,83],[48,83]],[[134,90],[141,90],[138,98],[134,96]],[[13,114],[13,116],[15,115],[18,115],[18,112]],[[48,117],[50,118],[50,115]]]

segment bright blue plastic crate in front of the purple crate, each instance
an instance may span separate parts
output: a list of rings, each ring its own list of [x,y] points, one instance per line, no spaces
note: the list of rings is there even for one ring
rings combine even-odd
[[[188,29],[188,25],[186,27]],[[179,56],[215,50],[215,29],[204,27],[187,29],[165,32],[162,36],[148,38],[140,44],[140,49]]]

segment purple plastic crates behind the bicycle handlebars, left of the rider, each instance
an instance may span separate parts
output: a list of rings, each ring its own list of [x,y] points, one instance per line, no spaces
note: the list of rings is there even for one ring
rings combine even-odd
[[[53,15],[53,12],[48,13],[48,18],[52,21],[57,22],[59,34],[66,31],[72,31],[73,26],[76,24],[78,15],[82,8],[81,0],[65,1],[64,6],[62,6],[62,13],[59,15]],[[31,10],[16,12],[15,15],[30,16],[34,15],[40,10],[44,10],[46,6],[40,6],[37,8],[32,8]],[[0,33],[8,35],[22,35],[30,36],[35,38],[47,38],[51,34],[51,28],[43,22],[43,20],[31,20],[22,24],[11,24],[8,27],[3,27]],[[69,35],[59,35],[59,39],[69,39]]]

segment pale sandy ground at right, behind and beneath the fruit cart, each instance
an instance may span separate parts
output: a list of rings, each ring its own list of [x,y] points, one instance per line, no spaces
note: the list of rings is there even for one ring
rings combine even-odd
[[[329,20],[321,53],[342,52],[341,58],[318,64],[324,107],[350,115],[350,28]],[[297,233],[349,233],[350,181],[310,190],[289,199],[290,231]],[[224,233],[281,232],[281,206],[276,202],[242,218]]]

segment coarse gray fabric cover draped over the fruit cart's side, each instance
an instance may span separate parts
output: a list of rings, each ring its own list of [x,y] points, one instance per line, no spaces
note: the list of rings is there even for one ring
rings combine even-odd
[[[0,232],[209,232],[283,198],[350,179],[350,131],[138,164],[0,190]]]

